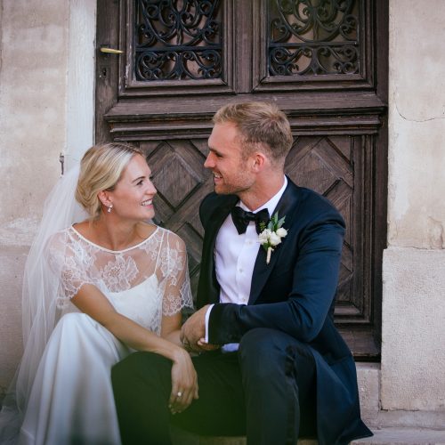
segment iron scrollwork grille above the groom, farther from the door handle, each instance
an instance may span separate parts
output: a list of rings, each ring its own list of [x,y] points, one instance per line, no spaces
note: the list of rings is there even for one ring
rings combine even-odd
[[[270,76],[359,72],[360,0],[268,2]]]

